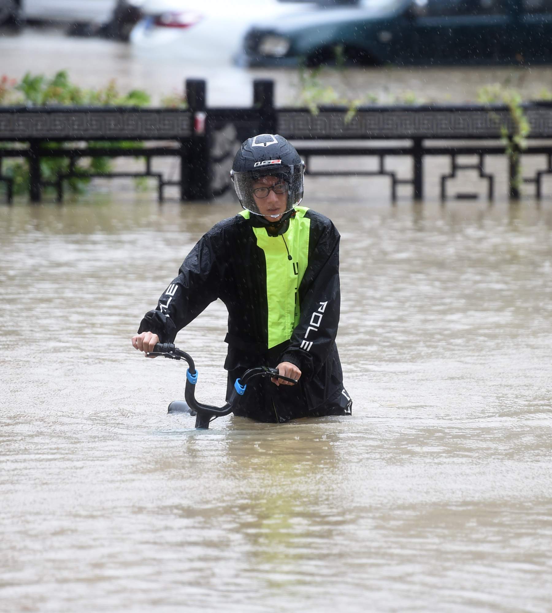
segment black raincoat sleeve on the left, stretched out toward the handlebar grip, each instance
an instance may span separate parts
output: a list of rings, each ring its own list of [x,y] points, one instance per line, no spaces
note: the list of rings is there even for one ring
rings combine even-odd
[[[217,300],[223,254],[213,231],[216,228],[207,232],[186,256],[177,278],[159,298],[157,308],[148,311],[140,322],[138,333],[153,332],[161,343],[174,343],[177,332]]]

